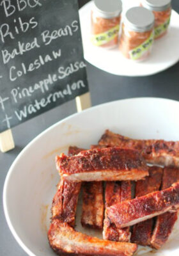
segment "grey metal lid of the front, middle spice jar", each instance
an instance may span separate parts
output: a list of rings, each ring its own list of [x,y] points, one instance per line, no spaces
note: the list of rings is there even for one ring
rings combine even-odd
[[[149,31],[154,26],[155,17],[150,10],[144,7],[132,7],[124,17],[124,24],[128,29],[137,32]]]

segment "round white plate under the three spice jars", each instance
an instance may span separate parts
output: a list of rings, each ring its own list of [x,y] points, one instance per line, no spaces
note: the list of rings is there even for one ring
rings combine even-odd
[[[125,0],[124,12],[130,6],[139,5],[138,0]],[[107,50],[94,46],[90,42],[91,4],[85,4],[80,10],[82,43],[84,58],[97,68],[118,76],[149,76],[166,70],[179,60],[179,15],[174,10],[171,13],[171,23],[166,36],[155,41],[152,54],[143,61],[136,63],[127,60],[116,47]]]

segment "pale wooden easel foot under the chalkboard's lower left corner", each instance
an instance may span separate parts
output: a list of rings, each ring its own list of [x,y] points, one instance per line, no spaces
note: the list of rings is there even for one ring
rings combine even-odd
[[[1,151],[7,152],[9,150],[12,150],[15,148],[15,144],[13,141],[13,136],[12,136],[12,130],[6,130],[4,132],[0,133],[0,149]]]

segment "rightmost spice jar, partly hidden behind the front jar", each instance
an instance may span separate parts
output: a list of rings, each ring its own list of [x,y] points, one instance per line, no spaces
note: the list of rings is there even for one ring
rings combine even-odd
[[[164,36],[171,17],[171,0],[142,0],[141,5],[155,15],[155,39]]]

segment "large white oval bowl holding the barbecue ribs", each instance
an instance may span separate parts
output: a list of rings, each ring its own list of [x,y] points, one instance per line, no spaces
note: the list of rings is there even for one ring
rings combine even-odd
[[[47,230],[59,181],[56,154],[66,153],[69,145],[89,148],[107,128],[131,138],[179,140],[178,110],[179,103],[174,100],[118,100],[72,115],[31,141],[13,162],[3,193],[6,220],[20,246],[31,256],[55,255],[47,241]],[[79,218],[78,212],[77,229],[82,230]],[[177,227],[178,223],[170,241],[156,255],[178,255]],[[138,255],[147,250],[139,248]]]

